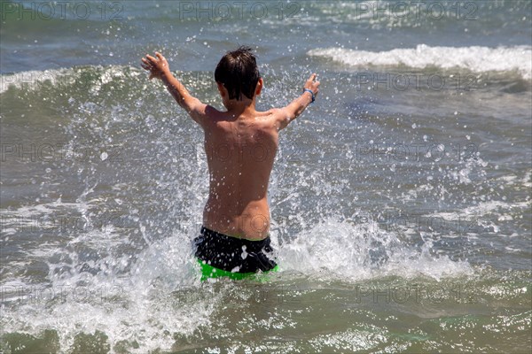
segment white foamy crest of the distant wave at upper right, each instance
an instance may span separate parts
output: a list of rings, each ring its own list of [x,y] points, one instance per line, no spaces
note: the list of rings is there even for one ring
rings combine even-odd
[[[532,79],[532,47],[429,47],[419,44],[416,48],[387,51],[350,50],[323,48],[309,50],[313,57],[330,58],[345,65],[356,67],[400,66],[423,69],[430,66],[442,69],[460,68],[474,73],[517,71],[526,79]]]

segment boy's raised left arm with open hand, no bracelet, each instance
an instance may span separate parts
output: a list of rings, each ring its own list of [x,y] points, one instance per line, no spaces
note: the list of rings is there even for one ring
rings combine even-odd
[[[177,104],[189,113],[189,115],[200,126],[203,127],[204,117],[207,112],[207,104],[203,104],[198,98],[192,96],[184,85],[170,73],[170,68],[166,58],[159,52],[155,52],[155,57],[146,55],[142,58],[142,67],[150,72],[150,80],[153,78],[160,79],[168,89],[168,92],[174,96]]]

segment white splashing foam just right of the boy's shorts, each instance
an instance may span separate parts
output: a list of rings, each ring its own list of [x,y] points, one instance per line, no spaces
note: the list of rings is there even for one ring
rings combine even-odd
[[[467,262],[434,257],[430,242],[415,249],[404,245],[396,233],[382,230],[378,223],[353,225],[328,219],[297,235],[278,251],[286,271],[324,274],[325,278],[360,281],[387,275],[446,276],[473,273]]]

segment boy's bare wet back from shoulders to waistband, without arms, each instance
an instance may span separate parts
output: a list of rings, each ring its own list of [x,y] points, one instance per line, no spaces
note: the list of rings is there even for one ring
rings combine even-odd
[[[272,112],[213,112],[203,125],[210,174],[204,225],[225,235],[263,239],[270,229],[268,183],[278,150]]]

